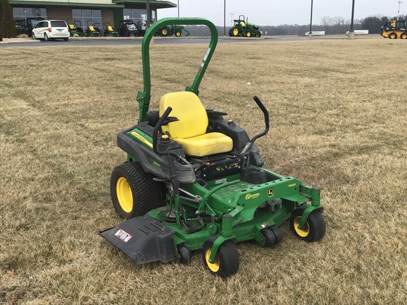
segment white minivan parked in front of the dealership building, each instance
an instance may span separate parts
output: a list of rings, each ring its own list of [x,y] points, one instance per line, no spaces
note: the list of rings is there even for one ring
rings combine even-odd
[[[55,40],[63,39],[69,40],[68,25],[64,20],[41,20],[35,28],[33,28],[33,40]]]

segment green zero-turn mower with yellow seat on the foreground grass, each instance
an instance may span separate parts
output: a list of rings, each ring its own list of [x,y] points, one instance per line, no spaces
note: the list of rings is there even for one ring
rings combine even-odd
[[[211,42],[191,86],[151,100],[149,45],[160,28],[181,23],[206,25]],[[319,241],[325,234],[320,189],[263,168],[254,141],[269,131],[269,113],[258,97],[265,130],[252,139],[227,114],[206,109],[199,84],[218,43],[216,26],[204,18],[164,18],[146,32],[141,45],[143,92],[138,92],[138,124],[120,131],[126,162],[114,168],[110,193],[125,221],[100,235],[136,264],[189,263],[201,251],[214,275],[229,277],[240,265],[236,244],[254,240],[280,243],[279,228],[289,221],[297,237]]]

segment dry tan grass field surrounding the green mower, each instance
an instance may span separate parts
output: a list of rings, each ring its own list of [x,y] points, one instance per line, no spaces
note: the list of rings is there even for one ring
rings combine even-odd
[[[69,44],[66,44],[69,46]],[[206,44],[151,47],[151,109],[191,85]],[[136,124],[141,47],[0,48],[0,304],[404,304],[406,41],[219,44],[199,97],[252,137],[265,167],[322,188],[326,235],[284,224],[273,249],[237,244],[228,280],[135,266],[98,235],[117,225],[116,134]],[[248,84],[250,83],[250,85]]]

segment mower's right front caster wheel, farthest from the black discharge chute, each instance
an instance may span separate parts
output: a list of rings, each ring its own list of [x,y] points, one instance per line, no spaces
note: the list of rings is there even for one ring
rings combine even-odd
[[[319,210],[314,210],[309,214],[307,222],[300,229],[300,221],[302,213],[304,213],[307,205],[301,205],[300,208],[294,210],[290,217],[290,227],[297,237],[304,239],[305,241],[319,241],[325,235],[325,220]]]

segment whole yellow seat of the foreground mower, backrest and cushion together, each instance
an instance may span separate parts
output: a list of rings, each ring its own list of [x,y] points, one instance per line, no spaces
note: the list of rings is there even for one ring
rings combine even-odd
[[[182,145],[185,155],[204,157],[233,148],[232,138],[223,133],[206,133],[208,115],[199,97],[194,92],[182,91],[163,95],[160,100],[160,116],[167,107],[172,108],[170,116],[179,121],[163,126],[175,142]]]

